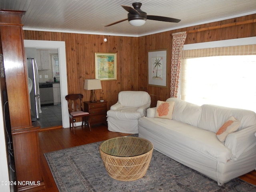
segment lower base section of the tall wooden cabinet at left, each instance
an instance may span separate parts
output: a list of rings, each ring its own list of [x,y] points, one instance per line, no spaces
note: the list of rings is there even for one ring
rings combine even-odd
[[[36,192],[45,188],[39,161],[39,130],[40,127],[33,127],[31,130],[30,128],[23,128],[12,132],[17,182],[40,182],[40,185],[18,183],[18,192]]]

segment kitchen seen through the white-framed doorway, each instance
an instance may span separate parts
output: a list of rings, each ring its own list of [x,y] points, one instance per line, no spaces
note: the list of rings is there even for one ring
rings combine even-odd
[[[28,77],[30,78],[28,78],[28,85],[31,84],[30,80],[34,78],[33,75],[29,76],[30,65],[34,62],[38,69],[34,70],[37,71],[34,76],[38,77],[38,80],[35,80],[34,87],[38,87],[39,92],[34,94],[34,88],[31,91],[31,88],[28,88],[30,91],[32,121],[37,121],[41,128],[62,126],[58,49],[25,48],[25,53],[28,58]],[[34,84],[34,80],[32,81]],[[38,100],[37,109],[34,109],[36,108],[34,106],[34,103],[36,103],[34,97],[38,98],[36,99]]]

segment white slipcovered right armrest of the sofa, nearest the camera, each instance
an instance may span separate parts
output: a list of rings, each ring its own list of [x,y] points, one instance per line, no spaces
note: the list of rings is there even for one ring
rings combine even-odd
[[[256,148],[255,132],[256,126],[253,125],[238,132],[228,134],[225,146],[232,151],[235,159],[239,158],[243,152]]]

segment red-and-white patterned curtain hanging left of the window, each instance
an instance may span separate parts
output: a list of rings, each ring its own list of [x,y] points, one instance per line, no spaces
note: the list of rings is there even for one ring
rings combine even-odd
[[[170,97],[178,97],[180,78],[180,52],[183,49],[187,32],[172,34],[172,64],[171,64],[171,93]]]

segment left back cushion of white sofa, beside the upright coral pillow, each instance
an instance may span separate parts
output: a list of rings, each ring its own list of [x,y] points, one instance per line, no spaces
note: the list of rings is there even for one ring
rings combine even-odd
[[[166,101],[174,101],[172,119],[197,126],[201,114],[201,106],[186,102],[178,98],[168,98]]]

